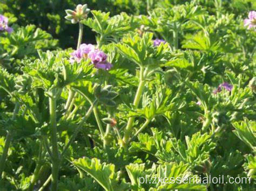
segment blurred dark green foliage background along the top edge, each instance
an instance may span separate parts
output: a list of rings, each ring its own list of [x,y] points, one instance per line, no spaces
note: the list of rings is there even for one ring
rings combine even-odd
[[[133,15],[145,15],[147,10],[152,10],[162,4],[183,4],[183,0],[2,0],[0,2],[0,13],[4,12],[13,21],[25,26],[34,24],[52,34],[53,38],[59,39],[60,47],[75,47],[78,28],[64,20],[65,9],[74,9],[77,4],[88,4],[91,10],[102,10],[110,12],[111,16],[120,12]],[[208,6],[208,11],[214,14],[214,1],[198,0],[199,3]],[[218,1],[217,1],[218,2]],[[250,10],[254,10],[256,3],[252,0],[223,1],[222,5],[226,11],[234,13],[235,16],[246,16]],[[84,37],[87,43],[95,42],[95,33],[89,28],[85,29]]]

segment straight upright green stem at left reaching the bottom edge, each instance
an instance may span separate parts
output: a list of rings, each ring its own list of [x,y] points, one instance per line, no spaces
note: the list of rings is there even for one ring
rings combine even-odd
[[[56,97],[52,94],[49,97],[50,125],[51,125],[51,144],[52,144],[52,185],[51,190],[58,189],[59,174],[59,153],[57,144],[57,121],[56,121]]]

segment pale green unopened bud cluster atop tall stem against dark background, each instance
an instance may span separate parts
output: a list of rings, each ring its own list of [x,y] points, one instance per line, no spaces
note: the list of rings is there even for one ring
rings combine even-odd
[[[76,10],[67,9],[65,19],[70,20],[71,23],[75,24],[87,18],[90,9],[87,9],[87,4],[77,5]]]

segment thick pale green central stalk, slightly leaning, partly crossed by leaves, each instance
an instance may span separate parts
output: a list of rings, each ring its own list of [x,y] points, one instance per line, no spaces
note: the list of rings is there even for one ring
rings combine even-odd
[[[142,97],[143,89],[144,89],[144,86],[145,86],[145,83],[146,83],[146,81],[144,80],[144,74],[143,73],[144,73],[144,70],[141,67],[140,68],[139,87],[137,89],[137,93],[136,93],[136,96],[134,97],[134,101],[133,101],[134,109],[137,109],[138,106],[139,106],[140,98]],[[134,122],[134,117],[130,117],[128,119],[128,123],[127,123],[127,126],[126,126],[125,131],[124,131],[124,137],[123,137],[124,144],[126,144],[129,140],[129,138],[130,138],[133,122]],[[122,145],[122,146],[125,146],[125,145]]]

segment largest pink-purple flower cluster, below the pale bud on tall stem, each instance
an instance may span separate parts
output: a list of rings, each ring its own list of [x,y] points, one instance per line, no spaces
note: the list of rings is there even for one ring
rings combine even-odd
[[[113,65],[107,62],[107,55],[95,48],[92,44],[82,44],[80,47],[71,53],[70,62],[80,62],[82,59],[91,59],[93,65],[98,69],[110,70]]]

